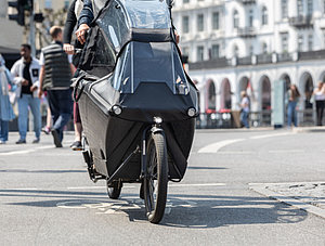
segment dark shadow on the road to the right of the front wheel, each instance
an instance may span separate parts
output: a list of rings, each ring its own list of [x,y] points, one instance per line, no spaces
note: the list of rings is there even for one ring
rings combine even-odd
[[[176,206],[165,216],[164,225],[203,229],[232,224],[297,223],[307,217],[307,212],[300,209],[266,197],[181,196],[183,203],[190,202],[192,205]],[[177,197],[171,199],[178,200]]]

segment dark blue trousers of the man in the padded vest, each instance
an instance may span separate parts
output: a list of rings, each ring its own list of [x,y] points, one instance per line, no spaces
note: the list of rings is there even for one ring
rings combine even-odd
[[[48,101],[53,119],[53,129],[58,132],[62,141],[63,128],[72,118],[73,113],[72,89],[48,90]]]

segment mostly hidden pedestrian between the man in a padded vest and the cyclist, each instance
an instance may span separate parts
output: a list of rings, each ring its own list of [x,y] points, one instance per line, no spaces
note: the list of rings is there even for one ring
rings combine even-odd
[[[66,23],[64,26],[64,33],[63,33],[63,49],[67,54],[73,54],[73,63],[76,67],[79,65],[79,60],[75,59],[79,56],[79,54],[76,54],[77,48],[82,48],[83,46],[81,43],[78,43],[76,41],[75,46],[72,46],[72,35],[74,31],[75,26],[77,25],[77,20],[82,10],[83,2],[81,0],[74,0],[70,4],[70,8],[67,13]],[[81,134],[82,134],[82,125],[81,125],[81,118],[79,113],[79,106],[77,102],[74,102],[74,128],[75,128],[75,141],[72,143],[70,148],[73,151],[82,151],[82,144],[81,144]]]

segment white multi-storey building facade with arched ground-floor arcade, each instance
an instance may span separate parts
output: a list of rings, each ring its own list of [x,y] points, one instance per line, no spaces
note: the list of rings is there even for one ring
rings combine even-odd
[[[172,11],[202,113],[236,111],[247,90],[251,111],[271,114],[281,80],[297,85],[306,121],[325,78],[324,0],[182,0]]]

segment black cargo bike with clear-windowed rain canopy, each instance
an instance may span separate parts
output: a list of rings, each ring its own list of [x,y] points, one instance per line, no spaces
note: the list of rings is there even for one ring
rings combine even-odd
[[[114,199],[123,183],[141,183],[147,219],[159,223],[168,181],[184,177],[198,112],[170,5],[108,1],[92,23],[74,87],[90,179],[105,179]]]

